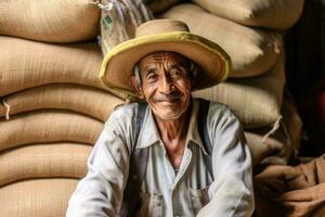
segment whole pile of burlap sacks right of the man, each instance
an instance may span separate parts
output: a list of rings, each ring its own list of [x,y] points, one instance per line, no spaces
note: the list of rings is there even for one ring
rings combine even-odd
[[[230,78],[194,97],[225,103],[240,119],[253,165],[287,164],[298,153],[301,120],[285,93],[283,33],[298,20],[303,0],[193,0],[161,17],[219,43],[232,58]],[[259,27],[259,28],[258,28]]]

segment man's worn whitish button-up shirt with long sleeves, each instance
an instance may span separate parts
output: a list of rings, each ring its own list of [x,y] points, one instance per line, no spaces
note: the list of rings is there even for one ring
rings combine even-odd
[[[194,99],[184,155],[176,175],[147,107],[135,146],[150,146],[139,216],[251,216],[251,157],[237,118],[225,105],[210,103],[207,129],[213,144],[212,180],[203,158],[206,150],[197,130],[197,113]],[[138,104],[123,105],[105,123],[88,159],[88,174],[69,201],[68,217],[119,216],[136,114]]]

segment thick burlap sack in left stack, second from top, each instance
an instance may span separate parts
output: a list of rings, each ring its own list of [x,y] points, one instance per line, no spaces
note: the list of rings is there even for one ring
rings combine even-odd
[[[1,36],[0,48],[0,97],[60,82],[108,90],[98,76],[103,56],[94,42],[64,46]]]

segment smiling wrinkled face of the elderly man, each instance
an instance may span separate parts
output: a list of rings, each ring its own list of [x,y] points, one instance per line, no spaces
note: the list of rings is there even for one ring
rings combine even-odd
[[[173,52],[155,52],[140,61],[142,93],[155,116],[179,118],[190,106],[190,61]]]

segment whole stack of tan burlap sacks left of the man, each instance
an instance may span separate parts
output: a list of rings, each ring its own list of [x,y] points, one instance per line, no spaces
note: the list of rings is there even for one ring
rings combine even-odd
[[[65,216],[103,123],[123,103],[98,78],[101,10],[9,0],[0,14],[0,216]]]

